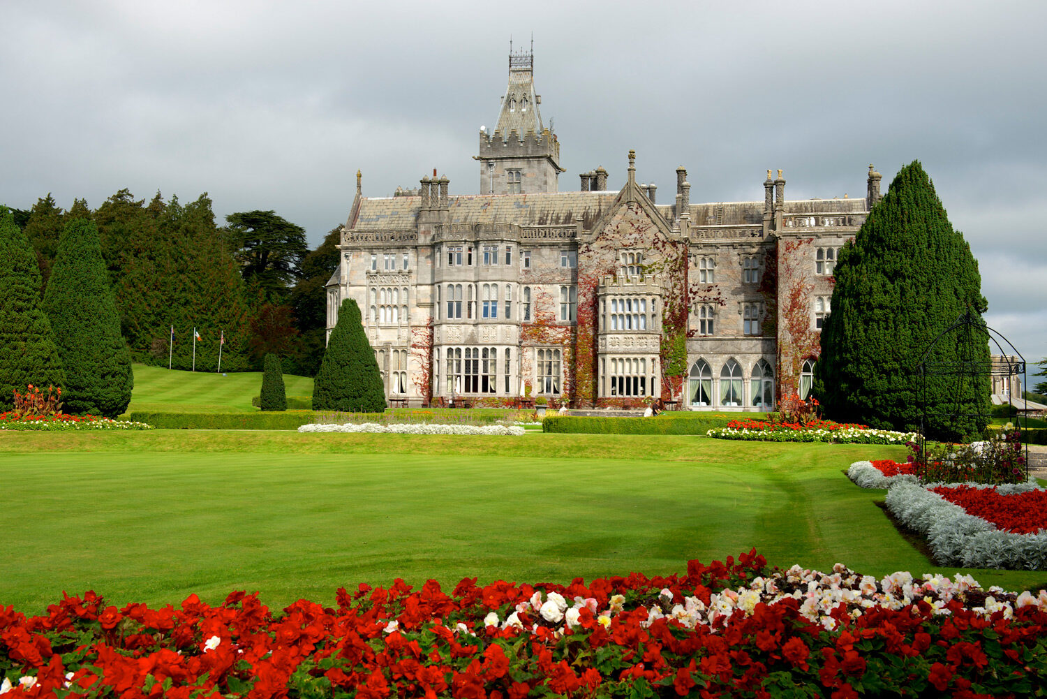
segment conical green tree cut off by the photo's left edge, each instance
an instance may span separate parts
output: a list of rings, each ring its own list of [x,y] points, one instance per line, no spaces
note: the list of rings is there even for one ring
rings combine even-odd
[[[65,386],[51,324],[40,300],[40,267],[10,211],[0,206],[0,412],[14,391],[29,385]]]

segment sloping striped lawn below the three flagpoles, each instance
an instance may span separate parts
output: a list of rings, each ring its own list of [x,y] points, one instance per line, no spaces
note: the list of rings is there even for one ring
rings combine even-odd
[[[284,374],[287,395],[312,395],[313,379]],[[216,374],[134,365],[134,391],[128,412],[254,412],[251,398],[262,392],[262,372]]]

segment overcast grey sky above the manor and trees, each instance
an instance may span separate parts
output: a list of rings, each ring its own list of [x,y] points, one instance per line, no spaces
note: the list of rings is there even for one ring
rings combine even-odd
[[[979,260],[989,325],[1047,356],[1047,3],[4,0],[0,202],[121,188],[274,210],[311,245],[363,191],[475,193],[510,37],[534,35],[567,172],[692,201],[885,189],[919,159]]]

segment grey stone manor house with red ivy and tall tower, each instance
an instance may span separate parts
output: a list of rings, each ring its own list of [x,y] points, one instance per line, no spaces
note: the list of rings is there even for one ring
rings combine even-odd
[[[768,170],[762,200],[692,203],[680,167],[662,203],[629,151],[621,190],[598,167],[561,192],[533,65],[509,57],[497,125],[473,156],[480,194],[451,194],[433,171],[365,197],[357,172],[328,332],[355,299],[391,399],[727,412],[806,396],[833,264],[879,173],[869,167],[862,199],[790,201]]]

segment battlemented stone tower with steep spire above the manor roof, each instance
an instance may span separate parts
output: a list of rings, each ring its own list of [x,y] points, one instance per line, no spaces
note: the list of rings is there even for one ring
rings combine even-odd
[[[560,144],[541,123],[534,91],[534,50],[509,52],[509,86],[494,133],[480,132],[480,193],[556,192]]]

